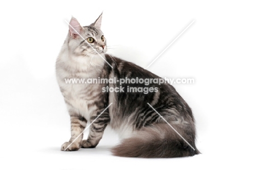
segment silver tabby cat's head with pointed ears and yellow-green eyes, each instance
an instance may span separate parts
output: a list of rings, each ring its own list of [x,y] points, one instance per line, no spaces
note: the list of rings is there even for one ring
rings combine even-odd
[[[101,31],[102,14],[89,26],[80,26],[72,17],[66,43],[69,50],[76,56],[90,57],[106,52],[106,38]]]

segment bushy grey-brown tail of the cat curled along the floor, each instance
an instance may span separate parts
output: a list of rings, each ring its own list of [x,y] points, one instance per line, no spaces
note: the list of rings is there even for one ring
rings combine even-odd
[[[131,138],[112,148],[113,155],[123,157],[184,157],[200,154],[195,146],[195,130],[189,124],[172,125],[191,148],[167,124],[144,127]]]

